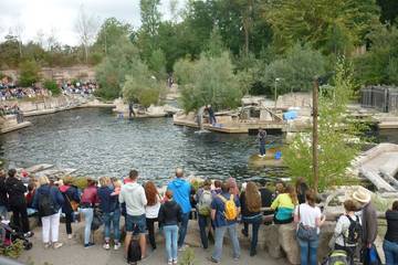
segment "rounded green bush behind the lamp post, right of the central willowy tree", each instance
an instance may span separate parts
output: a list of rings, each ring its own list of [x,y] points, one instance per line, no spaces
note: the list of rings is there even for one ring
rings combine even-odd
[[[262,82],[274,89],[277,82],[277,94],[306,92],[312,88],[315,75],[325,73],[325,59],[308,45],[295,44],[285,56],[270,63],[263,73]]]

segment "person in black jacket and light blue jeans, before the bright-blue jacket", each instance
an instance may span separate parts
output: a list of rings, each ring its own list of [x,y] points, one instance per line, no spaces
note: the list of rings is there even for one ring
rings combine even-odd
[[[172,200],[172,192],[166,191],[167,201],[160,206],[159,223],[166,239],[167,264],[177,265],[178,223],[181,222],[181,208]]]

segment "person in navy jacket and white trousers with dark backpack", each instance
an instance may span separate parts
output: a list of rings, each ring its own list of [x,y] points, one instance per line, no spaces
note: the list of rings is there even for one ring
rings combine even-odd
[[[34,193],[32,208],[36,209],[41,216],[44,248],[53,246],[56,250],[62,246],[62,243],[59,242],[59,231],[61,208],[64,199],[56,187],[50,186],[48,177],[40,177],[39,184],[40,188]]]

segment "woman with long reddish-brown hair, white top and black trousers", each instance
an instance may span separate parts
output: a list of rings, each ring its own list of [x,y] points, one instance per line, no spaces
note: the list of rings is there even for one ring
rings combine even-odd
[[[146,182],[144,189],[145,189],[145,195],[148,201],[145,208],[145,218],[149,233],[149,243],[153,250],[156,250],[155,222],[158,222],[161,198],[154,182],[151,181]]]

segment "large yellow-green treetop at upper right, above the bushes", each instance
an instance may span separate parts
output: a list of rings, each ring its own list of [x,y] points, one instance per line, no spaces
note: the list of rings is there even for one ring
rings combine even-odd
[[[300,41],[326,54],[349,54],[366,43],[379,9],[375,0],[277,0],[264,3],[264,15],[281,52]]]

